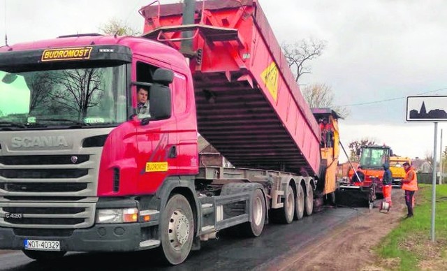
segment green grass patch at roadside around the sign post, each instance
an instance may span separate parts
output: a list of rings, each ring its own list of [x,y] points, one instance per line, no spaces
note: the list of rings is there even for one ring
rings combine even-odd
[[[446,270],[447,184],[436,187],[435,242],[431,240],[432,185],[418,186],[414,217],[403,219],[374,249],[387,270]]]

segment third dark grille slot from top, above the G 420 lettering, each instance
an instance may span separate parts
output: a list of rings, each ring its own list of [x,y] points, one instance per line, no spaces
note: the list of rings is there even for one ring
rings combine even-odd
[[[87,189],[87,184],[60,182],[6,182],[0,184],[0,189],[8,192],[76,192]]]

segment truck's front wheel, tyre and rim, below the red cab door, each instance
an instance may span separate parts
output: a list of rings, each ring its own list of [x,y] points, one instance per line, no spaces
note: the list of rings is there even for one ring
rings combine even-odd
[[[193,244],[194,219],[191,205],[183,195],[175,194],[161,214],[161,251],[171,265],[182,263]]]

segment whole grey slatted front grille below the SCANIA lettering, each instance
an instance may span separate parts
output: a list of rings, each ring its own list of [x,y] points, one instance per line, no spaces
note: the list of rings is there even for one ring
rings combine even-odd
[[[14,228],[20,236],[67,236],[94,225],[102,149],[80,147],[84,133],[73,135],[80,141],[72,153],[0,151],[0,227]]]

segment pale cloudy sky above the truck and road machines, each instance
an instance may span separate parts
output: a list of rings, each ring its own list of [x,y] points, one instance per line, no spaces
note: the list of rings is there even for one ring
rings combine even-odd
[[[115,17],[142,29],[138,10],[152,0],[0,0],[0,45],[98,33]],[[175,0],[160,0],[175,3]],[[395,154],[425,158],[434,151],[434,123],[406,122],[407,96],[447,96],[444,0],[258,0],[279,43],[324,41],[301,87],[325,83],[347,149],[353,140],[390,145]],[[5,9],[6,8],[6,9]],[[447,105],[446,105],[447,110]],[[437,125],[437,155],[444,149]],[[446,131],[447,134],[447,131]],[[444,136],[447,138],[447,136]],[[344,155],[340,161],[346,161]]]

